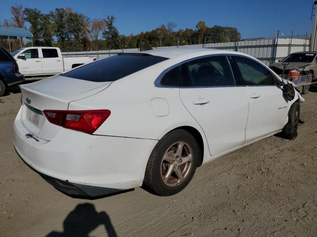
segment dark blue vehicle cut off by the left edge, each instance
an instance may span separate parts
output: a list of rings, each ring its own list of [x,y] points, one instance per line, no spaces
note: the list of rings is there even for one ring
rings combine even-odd
[[[15,59],[0,47],[0,96],[5,93],[8,86],[20,83],[24,80],[23,75],[19,73],[19,67]]]

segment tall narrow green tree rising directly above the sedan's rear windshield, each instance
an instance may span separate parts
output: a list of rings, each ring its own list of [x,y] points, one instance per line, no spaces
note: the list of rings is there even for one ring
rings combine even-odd
[[[113,25],[114,19],[114,16],[107,16],[105,19],[106,29],[103,31],[103,38],[110,49],[119,47],[119,32]]]

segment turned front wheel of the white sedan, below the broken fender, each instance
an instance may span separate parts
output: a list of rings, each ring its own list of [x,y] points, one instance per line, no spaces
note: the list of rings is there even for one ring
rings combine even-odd
[[[300,104],[295,102],[288,111],[288,122],[284,126],[282,134],[286,139],[294,140],[297,137],[299,123]]]

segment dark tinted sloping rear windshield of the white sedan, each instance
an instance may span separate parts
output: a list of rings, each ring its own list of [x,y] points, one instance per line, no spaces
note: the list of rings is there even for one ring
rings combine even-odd
[[[122,53],[76,68],[62,76],[95,82],[114,81],[166,59],[143,53]]]

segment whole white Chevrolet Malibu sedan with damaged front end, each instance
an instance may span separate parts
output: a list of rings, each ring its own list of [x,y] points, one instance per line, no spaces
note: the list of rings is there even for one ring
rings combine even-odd
[[[304,98],[286,100],[284,82],[239,52],[119,53],[22,85],[14,146],[68,194],[143,185],[173,195],[202,164],[279,132],[296,137]]]

